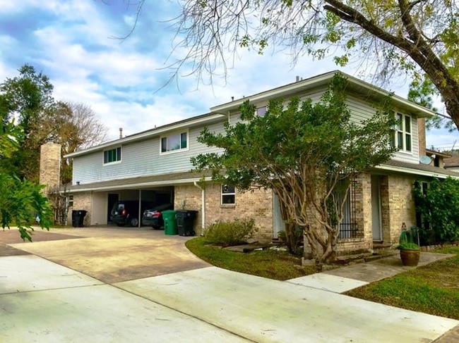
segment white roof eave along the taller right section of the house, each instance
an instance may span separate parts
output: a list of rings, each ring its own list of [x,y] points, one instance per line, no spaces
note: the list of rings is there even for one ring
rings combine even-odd
[[[249,100],[252,103],[263,102],[267,101],[268,99],[276,99],[282,96],[289,96],[292,94],[297,94],[298,92],[307,91],[309,89],[328,86],[336,73],[342,74],[347,78],[348,82],[350,82],[350,94],[352,94],[352,90],[362,90],[365,94],[374,94],[378,97],[381,96],[381,98],[390,94],[390,92],[386,91],[385,89],[376,87],[368,82],[359,80],[356,77],[335,70],[330,73],[311,77],[309,79],[294,82],[289,85],[270,89],[266,92],[261,92],[252,96],[246,96],[242,99],[237,99],[226,104],[214,106],[210,108],[210,111],[212,113],[226,114],[228,111],[236,111],[240,106],[242,106],[242,104],[244,104],[244,101],[246,100]],[[419,118],[429,118],[431,116],[435,116],[436,114],[434,111],[431,111],[423,106],[419,106],[418,104],[408,101],[407,99],[403,99],[401,96],[394,94],[392,99],[396,106],[400,106],[401,108],[410,108],[410,110],[415,112]]]

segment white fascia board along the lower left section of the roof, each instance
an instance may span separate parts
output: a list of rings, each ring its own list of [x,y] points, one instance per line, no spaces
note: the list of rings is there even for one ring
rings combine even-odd
[[[172,124],[172,125],[165,125],[163,127],[157,127],[156,129],[153,129],[153,130],[149,130],[147,132],[143,132],[143,133],[140,133],[138,135],[134,134],[132,136],[129,136],[129,137],[124,137],[124,138],[120,138],[120,139],[117,139],[117,140],[114,140],[112,142],[107,142],[107,143],[104,143],[104,144],[100,144],[100,145],[97,145],[97,146],[92,146],[88,149],[84,149],[84,150],[81,150],[81,151],[76,151],[76,152],[73,152],[71,154],[66,154],[64,155],[64,158],[73,158],[73,157],[76,157],[76,156],[81,156],[81,155],[85,155],[85,154],[90,154],[92,152],[95,152],[95,151],[100,151],[100,150],[105,150],[105,149],[108,149],[112,146],[121,146],[122,144],[126,144],[126,143],[130,143],[130,142],[136,142],[138,140],[143,140],[143,139],[146,139],[146,138],[150,138],[150,137],[155,137],[155,136],[160,136],[161,134],[165,133],[165,132],[171,132],[171,131],[174,131],[174,130],[180,130],[184,127],[192,127],[192,126],[196,126],[196,125],[205,125],[207,123],[212,123],[213,121],[217,120],[217,119],[220,119],[220,118],[224,118],[222,116],[222,114],[220,113],[217,113],[217,114],[213,114],[211,116],[205,116],[204,118],[196,118],[196,119],[189,119],[189,120],[184,120],[184,121],[181,121],[177,124]]]

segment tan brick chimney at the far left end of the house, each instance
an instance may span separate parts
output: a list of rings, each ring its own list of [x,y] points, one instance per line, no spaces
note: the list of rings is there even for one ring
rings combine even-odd
[[[45,185],[43,194],[59,187],[61,168],[61,144],[47,143],[40,147],[40,184]]]

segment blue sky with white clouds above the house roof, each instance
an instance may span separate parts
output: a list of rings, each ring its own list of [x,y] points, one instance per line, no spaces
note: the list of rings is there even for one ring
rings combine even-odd
[[[2,1],[0,81],[18,75],[24,63],[34,66],[49,76],[55,99],[93,108],[112,140],[119,136],[119,127],[124,135],[132,135],[207,113],[231,96],[238,99],[294,82],[296,75],[306,78],[337,69],[331,59],[312,61],[305,56],[292,66],[290,57],[282,53],[267,51],[260,56],[242,51],[226,81],[215,77],[213,85],[197,85],[191,75],[165,86],[174,37],[167,20],[178,15],[177,2],[145,1],[132,35],[114,39],[129,33],[135,12],[128,0]],[[181,53],[175,51],[169,61]],[[342,70],[350,75],[362,71]],[[407,94],[401,80],[385,88]],[[427,145],[451,147],[458,137],[458,133],[435,130],[427,133]]]

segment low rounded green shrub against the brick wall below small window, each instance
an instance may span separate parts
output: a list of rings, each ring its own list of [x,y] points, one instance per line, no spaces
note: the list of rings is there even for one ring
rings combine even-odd
[[[204,231],[205,239],[212,243],[230,247],[232,245],[244,244],[247,239],[258,231],[255,226],[255,220],[236,219],[230,222],[218,222],[207,227]]]

